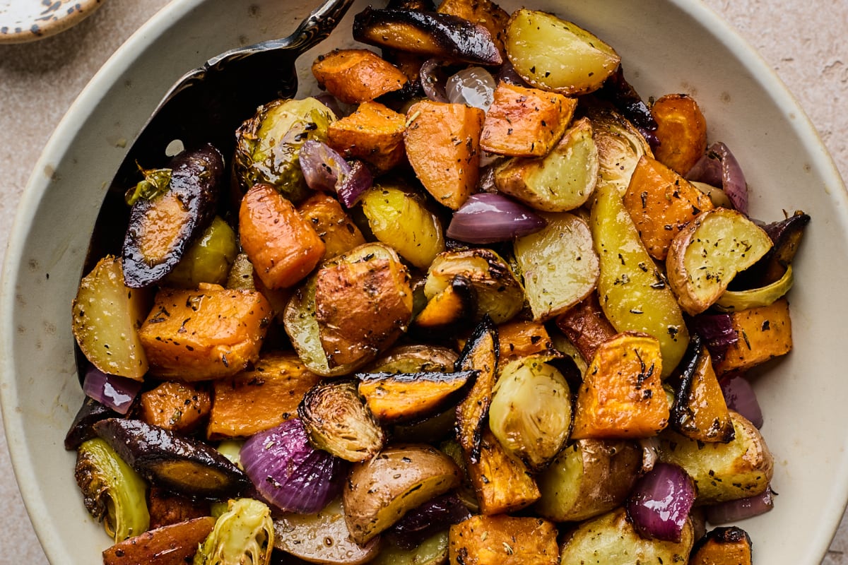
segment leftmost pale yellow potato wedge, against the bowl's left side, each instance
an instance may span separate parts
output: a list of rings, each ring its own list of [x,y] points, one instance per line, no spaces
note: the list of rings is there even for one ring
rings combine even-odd
[[[86,359],[103,373],[144,379],[148,358],[138,329],[149,302],[150,291],[124,284],[119,258],[100,259],[80,281],[71,304],[74,337]]]

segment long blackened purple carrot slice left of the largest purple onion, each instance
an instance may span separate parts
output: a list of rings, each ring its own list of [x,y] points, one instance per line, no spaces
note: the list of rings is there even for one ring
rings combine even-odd
[[[251,488],[241,469],[201,441],[132,419],[106,418],[94,431],[138,474],[168,490],[215,500]]]

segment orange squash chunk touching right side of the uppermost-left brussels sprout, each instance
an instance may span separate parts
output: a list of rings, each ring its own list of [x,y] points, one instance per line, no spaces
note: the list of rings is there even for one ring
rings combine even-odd
[[[349,116],[330,124],[327,145],[345,158],[371,163],[378,173],[396,167],[404,160],[406,116],[380,102],[362,102]]]

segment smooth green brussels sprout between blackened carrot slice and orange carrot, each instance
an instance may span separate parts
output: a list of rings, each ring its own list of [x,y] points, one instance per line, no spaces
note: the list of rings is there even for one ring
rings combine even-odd
[[[168,285],[195,289],[202,282],[224,285],[238,247],[236,232],[220,217],[215,216],[209,227],[192,243],[186,254],[169,274]]]

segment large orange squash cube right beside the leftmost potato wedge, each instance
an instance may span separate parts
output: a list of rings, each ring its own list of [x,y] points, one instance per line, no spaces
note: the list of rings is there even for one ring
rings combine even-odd
[[[200,285],[161,289],[138,330],[150,373],[162,379],[218,379],[259,358],[271,305],[259,292]]]

